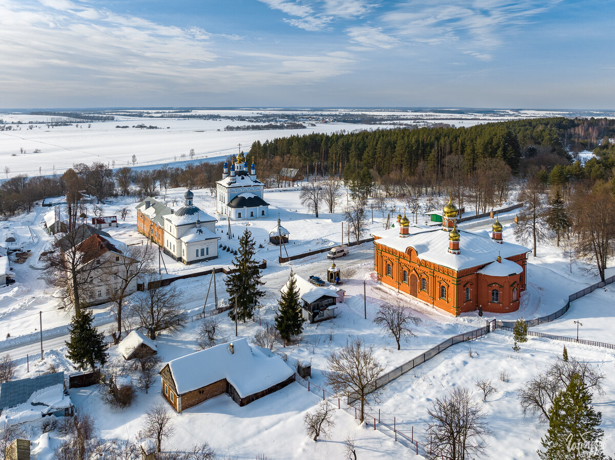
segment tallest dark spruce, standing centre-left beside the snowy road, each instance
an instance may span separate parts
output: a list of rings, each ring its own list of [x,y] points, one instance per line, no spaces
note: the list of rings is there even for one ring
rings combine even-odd
[[[245,322],[246,319],[252,318],[258,301],[265,294],[263,290],[258,289],[264,283],[261,281],[258,263],[254,260],[255,248],[256,243],[252,239],[252,233],[246,228],[244,234],[239,237],[239,251],[233,259],[235,268],[224,280],[231,302],[235,302],[237,295],[237,321]],[[234,308],[229,311],[229,317],[235,321]]]

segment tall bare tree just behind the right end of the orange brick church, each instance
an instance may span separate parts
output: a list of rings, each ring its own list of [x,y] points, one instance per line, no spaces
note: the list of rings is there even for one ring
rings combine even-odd
[[[533,241],[534,257],[536,242],[547,237],[546,233],[546,193],[544,185],[536,177],[530,177],[519,192],[518,200],[523,203],[519,211],[515,235],[524,244]]]

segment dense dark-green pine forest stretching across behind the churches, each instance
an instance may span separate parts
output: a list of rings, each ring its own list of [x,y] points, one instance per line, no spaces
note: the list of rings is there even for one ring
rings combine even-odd
[[[339,131],[276,138],[252,144],[250,155],[262,162],[308,166],[318,174],[353,177],[368,170],[378,176],[410,177],[445,170],[451,155],[464,159],[467,173],[480,160],[498,158],[516,173],[525,159],[547,155],[569,163],[569,151],[593,149],[598,140],[615,133],[615,120],[543,118],[484,123],[474,127],[429,127],[375,131]],[[530,162],[531,162],[530,161]],[[551,163],[557,160],[551,158]],[[419,165],[420,168],[419,168]],[[539,165],[540,166],[540,165]]]

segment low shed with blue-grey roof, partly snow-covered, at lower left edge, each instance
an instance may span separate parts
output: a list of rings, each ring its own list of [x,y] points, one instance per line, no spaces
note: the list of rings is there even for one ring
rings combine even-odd
[[[47,415],[73,416],[74,405],[65,392],[64,372],[2,383],[0,411],[0,424],[10,425]]]

